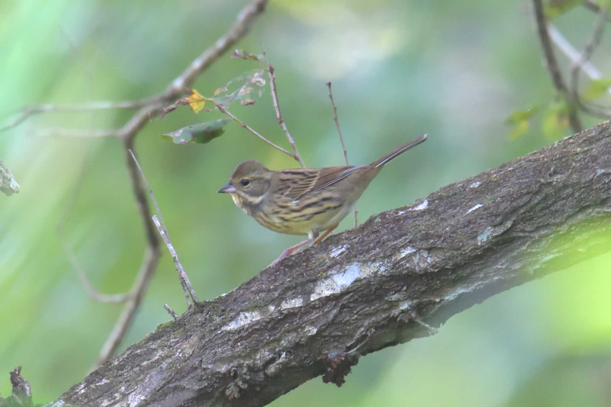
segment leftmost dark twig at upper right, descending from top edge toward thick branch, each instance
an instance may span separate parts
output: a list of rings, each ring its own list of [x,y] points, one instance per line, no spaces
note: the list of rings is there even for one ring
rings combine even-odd
[[[556,88],[558,93],[568,97],[568,90],[566,88],[565,81],[562,79],[560,67],[558,67],[558,62],[556,60],[556,57],[554,56],[554,49],[552,49],[552,43],[549,39],[549,34],[547,32],[547,23],[545,21],[545,15],[543,13],[543,4],[541,3],[541,0],[533,0],[533,5],[535,6],[535,21],[537,25],[537,32],[541,40],[541,46],[543,47],[543,54],[546,59],[547,70],[549,70],[549,74],[552,77],[552,82],[554,83],[554,87]],[[571,123],[571,128],[573,128],[573,131],[579,133],[582,127],[581,121],[579,120],[579,116],[577,116],[576,107],[573,103],[569,103],[568,105],[569,123]]]

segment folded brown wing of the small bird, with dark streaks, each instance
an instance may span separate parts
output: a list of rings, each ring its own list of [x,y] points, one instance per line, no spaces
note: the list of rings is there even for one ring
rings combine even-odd
[[[309,193],[321,190],[346,178],[358,167],[326,167],[326,168],[298,168],[296,170],[280,171],[280,189],[282,195],[299,200]]]

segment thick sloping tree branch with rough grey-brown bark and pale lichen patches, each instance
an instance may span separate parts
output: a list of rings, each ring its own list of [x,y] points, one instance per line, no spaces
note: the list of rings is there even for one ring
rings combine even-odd
[[[54,405],[263,406],[611,249],[611,124],[448,185],[192,307]]]

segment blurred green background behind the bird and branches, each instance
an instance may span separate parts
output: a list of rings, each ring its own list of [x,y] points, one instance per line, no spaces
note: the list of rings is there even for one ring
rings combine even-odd
[[[2,0],[1,123],[23,106],[158,93],[244,4]],[[577,7],[555,24],[581,48],[594,20]],[[600,49],[608,50],[609,40],[607,33]],[[513,110],[554,96],[530,2],[277,0],[238,45],[254,53],[261,46],[277,69],[282,112],[307,166],[343,163],[326,81],[333,82],[352,164],[430,134],[370,185],[357,205],[361,222],[554,141],[541,134],[538,119],[514,140],[503,123]],[[562,55],[558,59],[568,66]],[[593,62],[611,66],[608,52],[597,52]],[[253,68],[256,63],[228,54],[194,87],[211,96]],[[231,110],[288,148],[269,89],[254,106]],[[0,159],[21,185],[18,195],[0,195],[5,396],[9,370],[18,365],[35,402],[54,400],[80,381],[122,309],[87,297],[57,234],[60,220],[67,215],[65,239],[102,292],[129,289],[145,246],[120,143],[33,132],[116,128],[130,113],[48,113],[0,134]],[[290,157],[235,124],[207,145],[159,141],[161,133],[219,117],[182,107],[149,123],[136,139],[174,246],[203,299],[237,287],[300,239],[262,228],[229,196],[216,193],[243,160],[280,169],[295,167]],[[584,120],[584,126],[595,123]],[[340,228],[351,222],[348,217]],[[319,378],[273,405],[540,406],[545,400],[550,406],[608,406],[608,389],[590,378],[611,381],[610,261],[600,256],[496,295],[452,317],[434,337],[362,358],[342,389]],[[169,320],[164,303],[185,311],[165,247],[120,350]]]

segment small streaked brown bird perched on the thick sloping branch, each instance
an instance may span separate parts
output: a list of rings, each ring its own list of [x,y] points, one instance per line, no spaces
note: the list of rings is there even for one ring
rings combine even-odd
[[[233,170],[219,192],[230,193],[244,213],[274,232],[307,235],[280,259],[297,253],[308,242],[324,239],[352,211],[354,204],[385,164],[426,140],[426,134],[371,164],[356,167],[268,170],[249,160]],[[320,234],[324,231],[323,234]]]

